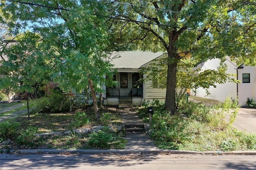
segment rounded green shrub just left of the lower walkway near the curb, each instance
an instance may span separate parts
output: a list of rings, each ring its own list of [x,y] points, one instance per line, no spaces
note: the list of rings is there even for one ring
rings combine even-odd
[[[104,132],[102,130],[93,132],[90,135],[88,145],[97,149],[109,149],[109,143],[113,140],[112,133]]]

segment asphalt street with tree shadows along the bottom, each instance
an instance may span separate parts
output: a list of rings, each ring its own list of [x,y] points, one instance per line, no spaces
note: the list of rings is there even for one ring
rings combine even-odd
[[[1,170],[255,170],[256,155],[1,154]]]

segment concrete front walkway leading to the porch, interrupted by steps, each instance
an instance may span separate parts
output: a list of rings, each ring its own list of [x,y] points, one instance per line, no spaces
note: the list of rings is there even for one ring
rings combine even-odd
[[[121,112],[122,126],[145,124],[145,122],[138,117],[136,111],[131,107],[119,107],[119,109]],[[125,146],[126,150],[158,150],[156,145],[154,145],[154,142],[150,140],[146,133],[128,133],[124,139],[128,141]]]

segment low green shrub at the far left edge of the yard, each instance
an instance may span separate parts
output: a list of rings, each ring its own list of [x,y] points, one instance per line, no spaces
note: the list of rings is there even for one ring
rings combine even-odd
[[[0,123],[0,133],[1,137],[3,136],[5,139],[15,139],[18,136],[18,131],[20,123],[13,122],[10,123],[8,121],[4,121]]]

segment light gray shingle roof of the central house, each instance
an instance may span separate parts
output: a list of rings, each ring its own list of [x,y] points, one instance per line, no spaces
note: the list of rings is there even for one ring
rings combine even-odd
[[[121,57],[113,59],[110,63],[114,64],[114,68],[140,68],[143,64],[163,54],[164,52],[153,53],[150,51],[114,52],[112,56],[120,55]]]

